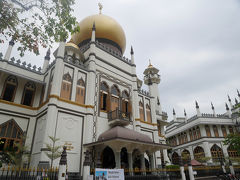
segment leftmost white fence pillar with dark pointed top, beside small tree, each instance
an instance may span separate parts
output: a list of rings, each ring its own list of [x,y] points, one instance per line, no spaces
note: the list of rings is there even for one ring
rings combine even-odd
[[[58,170],[58,180],[65,180],[67,174],[67,147],[63,147],[63,152],[61,154],[61,159],[59,162],[59,170]]]

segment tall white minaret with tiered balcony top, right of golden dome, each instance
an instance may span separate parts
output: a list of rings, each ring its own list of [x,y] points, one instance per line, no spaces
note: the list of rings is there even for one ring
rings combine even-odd
[[[144,83],[148,85],[150,96],[154,102],[154,106],[160,114],[162,114],[162,108],[160,104],[158,84],[160,83],[159,70],[152,66],[150,60],[147,69],[143,72]],[[153,108],[153,107],[151,107]]]

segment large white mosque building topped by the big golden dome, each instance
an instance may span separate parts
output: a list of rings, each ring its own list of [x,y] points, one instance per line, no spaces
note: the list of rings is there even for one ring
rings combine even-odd
[[[25,134],[31,167],[49,164],[49,136],[67,146],[69,172],[82,174],[86,150],[92,168],[97,159],[102,168],[129,170],[170,162],[159,70],[149,64],[144,80],[137,78],[133,49],[130,59],[123,56],[125,34],[113,18],[100,13],[79,25],[80,33],[59,44],[55,59],[48,50],[41,68],[16,60],[14,41],[0,54],[0,151],[23,143]]]

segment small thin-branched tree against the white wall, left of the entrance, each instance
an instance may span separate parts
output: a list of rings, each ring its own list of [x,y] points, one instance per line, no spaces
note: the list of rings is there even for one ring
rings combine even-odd
[[[56,142],[59,141],[59,138],[55,138],[52,136],[48,136],[52,143],[46,144],[48,152],[45,152],[47,157],[51,160],[51,168],[53,165],[53,161],[61,156],[61,152],[59,151],[62,146],[56,146]]]

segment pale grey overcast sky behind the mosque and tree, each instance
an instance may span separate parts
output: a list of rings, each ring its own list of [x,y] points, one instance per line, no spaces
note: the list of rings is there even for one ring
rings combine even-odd
[[[78,21],[98,13],[97,0],[75,0]],[[130,57],[135,52],[137,75],[151,59],[160,70],[160,97],[172,120],[172,108],[183,116],[196,114],[195,100],[202,113],[225,112],[227,94],[232,101],[240,89],[240,1],[239,0],[100,0],[103,14],[123,27]],[[55,45],[57,47],[57,45]],[[1,46],[5,53],[6,47]],[[16,49],[16,47],[15,47]],[[41,66],[46,50],[22,59]],[[13,54],[17,56],[16,50]]]

